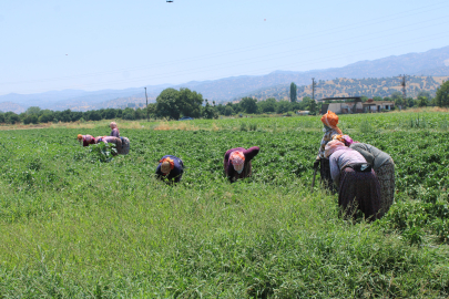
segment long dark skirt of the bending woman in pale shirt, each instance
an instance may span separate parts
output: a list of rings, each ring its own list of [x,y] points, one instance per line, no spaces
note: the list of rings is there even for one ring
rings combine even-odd
[[[374,169],[364,173],[350,167],[344,168],[340,174],[338,205],[346,217],[355,217],[358,208],[366,219],[378,219],[380,185]]]

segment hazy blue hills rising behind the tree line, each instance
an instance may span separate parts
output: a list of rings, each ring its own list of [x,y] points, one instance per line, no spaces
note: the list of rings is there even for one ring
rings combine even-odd
[[[295,82],[298,96],[312,94],[309,85],[312,78],[318,82],[316,97],[338,95],[386,96],[392,91],[400,90],[399,74],[408,78],[409,95],[414,96],[419,90],[435,90],[441,80],[449,76],[449,47],[429,50],[424,53],[409,53],[388,56],[373,61],[359,61],[344,68],[313,70],[307,72],[275,71],[258,76],[233,76],[214,81],[192,81],[178,85],[147,86],[149,102],[154,102],[164,89],[188,87],[203,94],[204,99],[216,102],[228,102],[243,96],[257,99],[288,96],[288,86]],[[385,85],[382,85],[385,84]],[[10,102],[6,104],[4,102]],[[12,106],[11,104],[19,106]],[[96,110],[101,107],[124,107],[145,103],[143,87],[126,90],[85,91],[51,91],[40,94],[8,94],[0,96],[0,111],[19,112],[29,106],[40,106],[51,110]],[[12,110],[13,109],[13,110]]]

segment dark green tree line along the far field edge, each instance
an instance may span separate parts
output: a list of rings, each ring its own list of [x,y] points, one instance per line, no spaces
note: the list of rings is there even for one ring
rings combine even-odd
[[[290,85],[290,101],[276,101],[271,97],[265,101],[257,101],[253,97],[243,97],[238,102],[228,102],[226,104],[210,103],[203,100],[203,95],[188,89],[165,89],[156,99],[156,103],[151,103],[146,107],[126,107],[126,109],[101,109],[86,112],[81,111],[52,111],[41,110],[38,106],[31,106],[25,112],[16,114],[13,112],[0,112],[0,123],[6,124],[38,124],[49,122],[76,122],[76,121],[101,121],[101,120],[145,120],[166,118],[178,120],[182,116],[217,118],[220,115],[232,116],[239,114],[284,114],[298,110],[309,111],[309,114],[318,114],[320,104],[317,104],[308,96],[303,101],[296,101],[297,87]],[[363,101],[367,101],[363,96]],[[390,96],[373,97],[374,101],[392,101],[396,106],[417,107],[417,106],[440,106],[449,107],[449,81],[446,81],[438,87],[436,96],[431,97],[427,91],[418,93],[417,99],[407,97],[404,101],[400,92],[394,92]]]

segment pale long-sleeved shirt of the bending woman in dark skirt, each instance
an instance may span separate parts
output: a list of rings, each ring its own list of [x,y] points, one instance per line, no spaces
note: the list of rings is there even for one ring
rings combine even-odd
[[[329,157],[330,176],[334,183],[339,186],[341,169],[350,164],[367,163],[364,156],[349,147],[337,150]]]

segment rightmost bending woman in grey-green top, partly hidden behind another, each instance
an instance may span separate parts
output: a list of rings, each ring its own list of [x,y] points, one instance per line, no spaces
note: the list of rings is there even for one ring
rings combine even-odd
[[[371,164],[380,184],[379,217],[384,216],[395,200],[395,162],[391,156],[370,144],[354,142],[347,135],[337,135],[335,138],[359,152]]]

